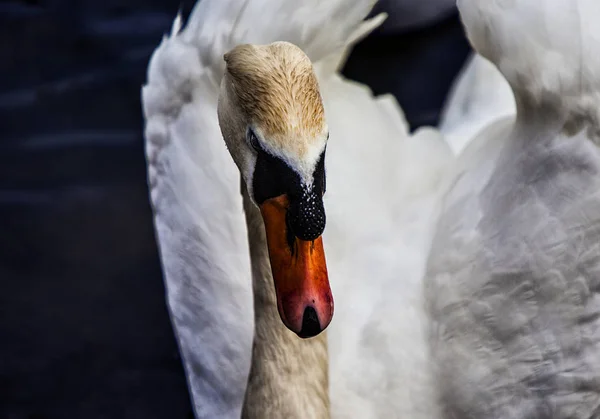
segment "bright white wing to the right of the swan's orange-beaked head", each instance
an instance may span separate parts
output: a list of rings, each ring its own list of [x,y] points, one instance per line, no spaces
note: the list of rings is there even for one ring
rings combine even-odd
[[[374,97],[320,64],[332,417],[436,418],[422,280],[454,158],[437,130],[411,135],[392,96]]]

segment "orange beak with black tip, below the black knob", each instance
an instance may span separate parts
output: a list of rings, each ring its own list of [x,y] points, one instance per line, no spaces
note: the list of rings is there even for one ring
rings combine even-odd
[[[301,338],[321,333],[333,317],[323,240],[304,241],[288,231],[286,195],[266,200],[260,211],[267,233],[277,309],[288,329]]]

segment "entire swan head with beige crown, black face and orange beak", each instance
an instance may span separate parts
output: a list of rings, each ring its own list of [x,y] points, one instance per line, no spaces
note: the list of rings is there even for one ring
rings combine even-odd
[[[300,337],[333,317],[321,235],[328,128],[317,78],[295,45],[241,45],[225,54],[219,125],[262,215],[277,308]]]

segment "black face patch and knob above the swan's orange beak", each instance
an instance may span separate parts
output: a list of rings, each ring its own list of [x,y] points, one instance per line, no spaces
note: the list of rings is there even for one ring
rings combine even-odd
[[[252,134],[253,135],[253,134]],[[252,141],[252,138],[249,138]],[[286,194],[289,208],[286,215],[288,243],[294,252],[294,237],[312,241],[325,229],[325,150],[315,167],[312,185],[303,184],[300,176],[283,160],[260,147],[256,140],[257,158],[252,189],[254,200],[262,204],[267,199]]]

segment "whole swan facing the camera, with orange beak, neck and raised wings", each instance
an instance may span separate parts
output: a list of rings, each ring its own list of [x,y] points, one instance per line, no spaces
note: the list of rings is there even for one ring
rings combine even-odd
[[[382,16],[363,22],[371,6],[202,0],[185,29],[175,20],[151,58],[142,92],[150,200],[167,303],[199,418],[439,417],[422,277],[454,158],[438,131],[411,136],[390,95],[374,98],[340,76],[351,45],[382,22]],[[313,94],[311,115],[318,117],[275,113],[303,133],[295,143],[278,139],[281,130],[264,121],[248,124],[256,111],[249,107],[270,112],[265,95],[286,99],[269,84],[271,50],[278,48],[287,50],[283,73],[313,73],[297,88],[316,78],[324,109],[319,116]],[[246,94],[262,102],[244,108]],[[290,100],[292,109],[309,106]],[[260,185],[255,176],[263,176]],[[317,190],[305,218],[323,212],[319,195],[326,189],[326,227],[314,253],[326,255],[329,286],[323,269],[314,281],[311,269],[286,279],[280,267],[287,256],[276,254],[288,246],[282,207],[290,204],[269,182],[287,182],[289,190],[294,179],[302,185],[310,178]],[[308,219],[293,229],[313,229]],[[317,227],[304,238],[318,237]],[[305,246],[302,237],[292,239]],[[303,289],[298,284],[306,277],[312,285]],[[296,285],[284,289],[291,281]],[[303,299],[286,300],[289,290]],[[330,320],[326,333],[298,338]]]

